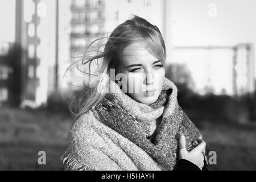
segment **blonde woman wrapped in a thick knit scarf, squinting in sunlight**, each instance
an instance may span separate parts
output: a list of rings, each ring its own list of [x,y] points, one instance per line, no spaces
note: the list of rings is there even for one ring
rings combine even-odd
[[[117,26],[97,85],[69,133],[66,170],[201,170],[205,142],[165,77],[158,29],[134,16]],[[104,90],[104,92],[102,92]]]

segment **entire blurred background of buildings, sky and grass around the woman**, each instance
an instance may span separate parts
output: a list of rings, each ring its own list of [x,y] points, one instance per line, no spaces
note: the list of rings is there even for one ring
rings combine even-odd
[[[162,32],[166,77],[207,151],[216,151],[209,169],[255,170],[255,9],[254,0],[0,1],[0,170],[63,169],[67,101],[81,77],[66,70],[131,14]]]

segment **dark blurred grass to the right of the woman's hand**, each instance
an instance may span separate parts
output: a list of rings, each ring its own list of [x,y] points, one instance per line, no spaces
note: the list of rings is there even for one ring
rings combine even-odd
[[[210,170],[256,170],[256,126],[201,123],[207,151],[216,151]]]

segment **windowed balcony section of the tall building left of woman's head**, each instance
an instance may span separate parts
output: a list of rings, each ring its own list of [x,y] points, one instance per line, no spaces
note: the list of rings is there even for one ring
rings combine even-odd
[[[73,0],[71,13],[71,55],[76,55],[105,35],[105,1]]]

